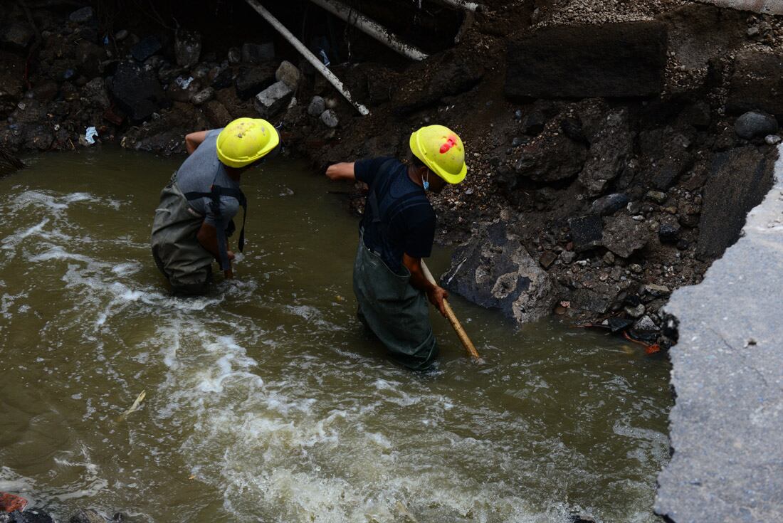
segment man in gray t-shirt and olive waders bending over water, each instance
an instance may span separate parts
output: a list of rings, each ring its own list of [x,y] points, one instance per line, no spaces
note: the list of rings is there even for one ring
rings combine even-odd
[[[152,225],[152,254],[173,294],[204,294],[217,260],[232,278],[228,237],[243,207],[239,250],[244,247],[247,200],[240,176],[280,143],[268,121],[239,118],[223,129],[185,137],[189,157],[161,191]]]

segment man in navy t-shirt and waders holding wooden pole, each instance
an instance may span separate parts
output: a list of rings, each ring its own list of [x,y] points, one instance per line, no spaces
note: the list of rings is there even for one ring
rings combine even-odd
[[[359,319],[392,357],[414,370],[431,366],[438,355],[427,301],[446,316],[449,294],[429,283],[421,269],[435,239],[435,211],[428,191],[440,193],[467,172],[459,136],[442,125],[410,135],[410,165],[376,158],[330,165],[332,180],[359,180],[369,186],[359,225],[353,290]]]

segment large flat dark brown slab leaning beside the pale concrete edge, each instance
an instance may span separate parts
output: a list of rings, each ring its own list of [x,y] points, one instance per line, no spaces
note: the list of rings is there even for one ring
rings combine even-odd
[[[698,222],[698,259],[718,258],[738,240],[745,216],[772,186],[772,169],[755,146],[715,154]]]

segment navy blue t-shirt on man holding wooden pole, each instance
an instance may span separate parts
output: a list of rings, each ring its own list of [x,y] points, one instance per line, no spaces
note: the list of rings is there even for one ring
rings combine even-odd
[[[366,247],[380,253],[394,272],[402,272],[403,253],[428,258],[435,240],[435,210],[424,188],[408,177],[408,168],[385,157],[357,161],[353,171],[359,182],[370,186],[362,218]],[[370,204],[373,192],[377,215]]]

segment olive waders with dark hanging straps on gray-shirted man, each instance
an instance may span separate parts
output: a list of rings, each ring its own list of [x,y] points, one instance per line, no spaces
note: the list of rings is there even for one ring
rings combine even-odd
[[[247,200],[241,191],[215,186],[208,193],[182,193],[177,186],[177,173],[161,191],[161,204],[155,210],[152,225],[152,255],[157,268],[171,283],[174,294],[204,294],[212,275],[212,254],[204,249],[196,235],[204,223],[204,216],[190,207],[188,200],[210,197],[211,209],[218,218],[218,247],[220,265],[229,268],[226,236],[235,229],[233,220],[225,223],[220,216],[220,197],[239,200],[247,216]],[[244,224],[240,233],[240,251],[244,247]]]

